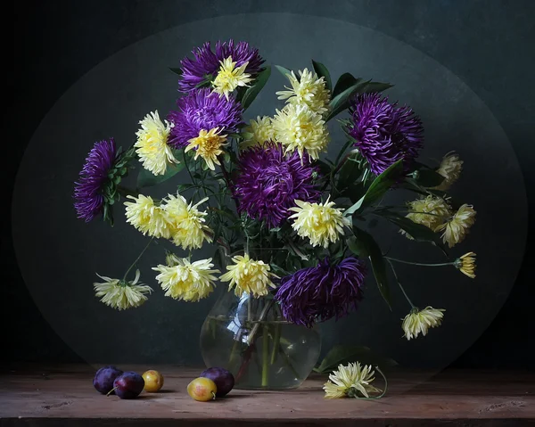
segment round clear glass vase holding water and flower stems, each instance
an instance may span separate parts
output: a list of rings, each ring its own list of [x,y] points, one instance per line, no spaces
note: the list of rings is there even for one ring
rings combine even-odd
[[[202,324],[204,363],[230,371],[236,389],[295,389],[316,365],[320,349],[317,328],[286,321],[272,295],[224,292]]]

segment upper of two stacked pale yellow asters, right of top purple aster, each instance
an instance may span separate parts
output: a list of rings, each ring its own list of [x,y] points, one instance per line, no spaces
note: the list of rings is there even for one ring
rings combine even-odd
[[[292,87],[284,86],[288,90],[276,92],[278,99],[285,99],[286,103],[305,105],[311,111],[324,114],[329,110],[331,94],[325,87],[325,79],[318,78],[315,72],[308,69],[299,71],[299,78],[295,74],[286,74]]]

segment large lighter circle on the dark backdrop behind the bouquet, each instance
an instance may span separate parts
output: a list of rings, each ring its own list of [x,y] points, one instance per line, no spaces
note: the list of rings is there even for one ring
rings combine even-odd
[[[229,25],[232,21],[232,25]],[[21,273],[37,307],[56,333],[90,363],[171,363],[199,365],[199,333],[216,295],[196,304],[163,296],[151,267],[164,260],[152,247],[139,264],[142,281],[154,292],[144,306],[123,312],[104,306],[93,291],[95,272],[121,277],[143,249],[144,237],[124,223],[121,209],[111,229],[95,220],[85,224],[72,207],[73,182],[95,141],[114,136],[128,147],[137,123],[148,111],[165,116],[175,107],[177,76],[169,67],[206,40],[246,40],[271,64],[293,70],[325,63],[333,80],[350,71],[357,77],[395,84],[391,100],[411,105],[422,117],[422,159],[440,160],[456,150],[465,171],[452,194],[471,203],[478,218],[466,242],[451,252],[478,254],[477,279],[453,267],[399,267],[407,292],[420,307],[446,308],[442,326],[425,338],[406,341],[400,318],[409,310],[391,283],[394,305],[381,300],[373,277],[358,311],[322,325],[323,347],[366,345],[403,365],[448,365],[475,341],[506,300],[523,258],[527,203],[513,148],[481,99],[451,71],[395,38],[355,24],[289,13],[251,13],[180,25],[113,54],[71,86],[45,116],[21,161],[12,224]],[[272,77],[245,119],[271,115],[281,102],[276,90],[284,77]],[[330,153],[342,146],[333,129]],[[333,155],[331,155],[333,157]],[[186,180],[180,175],[177,180]],[[183,181],[184,182],[184,181]],[[173,192],[177,182],[149,193]],[[404,194],[414,197],[414,194]],[[396,201],[402,202],[399,196]],[[505,211],[514,207],[514,221]],[[507,214],[508,215],[508,214]],[[440,262],[439,250],[408,242],[380,223],[370,231],[393,257]],[[213,249],[195,253],[208,258]]]

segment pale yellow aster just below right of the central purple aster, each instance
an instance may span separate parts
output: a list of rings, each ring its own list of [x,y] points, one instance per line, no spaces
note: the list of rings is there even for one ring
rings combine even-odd
[[[309,201],[295,201],[297,207],[290,208],[295,212],[292,218],[292,228],[300,237],[310,239],[312,246],[326,248],[331,242],[337,242],[340,234],[344,234],[343,227],[351,226],[350,218],[343,216],[342,209],[334,208],[334,202],[310,203]]]

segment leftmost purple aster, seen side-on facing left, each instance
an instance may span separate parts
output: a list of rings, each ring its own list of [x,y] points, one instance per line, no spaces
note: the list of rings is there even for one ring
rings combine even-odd
[[[113,138],[95,143],[86,158],[80,178],[74,185],[74,208],[78,218],[91,221],[103,210],[103,186],[108,182],[108,172],[113,167],[117,152]]]

